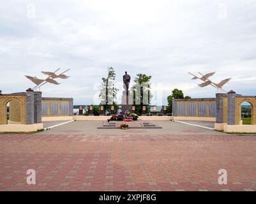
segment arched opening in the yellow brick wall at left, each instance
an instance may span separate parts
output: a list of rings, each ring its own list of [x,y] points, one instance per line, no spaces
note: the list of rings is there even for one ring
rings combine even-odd
[[[11,100],[6,104],[7,124],[20,124],[20,102]]]

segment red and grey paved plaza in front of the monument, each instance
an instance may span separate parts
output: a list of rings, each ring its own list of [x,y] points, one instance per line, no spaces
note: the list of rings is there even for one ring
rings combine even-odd
[[[0,134],[0,191],[256,191],[255,135],[172,121],[151,121],[162,129],[97,129],[100,122]],[[35,185],[26,182],[28,169]],[[218,184],[220,169],[227,185]]]

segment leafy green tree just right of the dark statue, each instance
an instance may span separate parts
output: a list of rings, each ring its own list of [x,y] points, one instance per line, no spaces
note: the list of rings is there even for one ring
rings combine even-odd
[[[149,111],[149,104],[153,97],[150,92],[150,89],[151,89],[150,80],[151,80],[151,76],[147,76],[141,73],[137,74],[137,77],[135,77],[134,79],[135,85],[133,85],[131,90],[133,91],[133,104],[135,105],[135,113],[137,113],[137,115],[141,115],[143,105],[146,106],[146,112]],[[136,94],[136,93],[139,93],[139,94]],[[143,95],[146,98],[144,98]],[[146,104],[144,103],[145,100],[146,100]]]

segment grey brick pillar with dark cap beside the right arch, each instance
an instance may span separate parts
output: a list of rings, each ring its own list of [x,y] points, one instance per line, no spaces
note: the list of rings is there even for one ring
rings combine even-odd
[[[227,93],[227,124],[236,124],[236,92]]]

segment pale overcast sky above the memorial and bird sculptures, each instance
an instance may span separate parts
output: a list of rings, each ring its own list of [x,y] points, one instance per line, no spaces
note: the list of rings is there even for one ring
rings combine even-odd
[[[4,1],[0,43],[3,93],[33,87],[24,75],[45,78],[40,71],[71,68],[68,80],[44,85],[43,96],[97,103],[112,66],[118,86],[124,71],[132,80],[151,75],[153,94],[163,91],[163,99],[154,98],[158,105],[176,87],[193,98],[215,97],[188,71],[216,71],[215,82],[232,77],[226,91],[256,94],[256,1]]]

